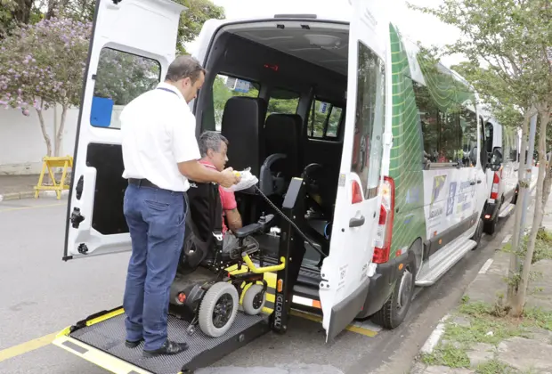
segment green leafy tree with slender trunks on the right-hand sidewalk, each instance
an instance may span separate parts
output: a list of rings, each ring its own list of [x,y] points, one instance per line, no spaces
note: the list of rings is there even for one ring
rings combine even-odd
[[[540,165],[545,165],[546,134],[552,103],[552,70],[547,56],[552,41],[549,21],[552,12],[548,0],[445,0],[444,4],[433,9],[409,6],[459,28],[463,38],[447,45],[444,53],[463,53],[467,56],[467,61],[462,64],[463,73],[483,93],[483,101],[495,104],[492,105],[495,117],[505,118],[507,111],[511,113],[511,110],[519,108],[524,118],[522,164],[529,120],[534,113],[540,114],[538,150]],[[544,213],[544,172],[545,168],[540,167],[532,232],[523,261],[518,251],[522,209],[515,211],[507,292],[507,307],[514,316],[523,313],[532,252]],[[524,167],[519,168],[518,179],[519,206],[529,187]]]

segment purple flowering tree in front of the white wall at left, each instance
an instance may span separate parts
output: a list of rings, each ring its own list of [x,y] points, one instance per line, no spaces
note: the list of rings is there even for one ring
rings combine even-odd
[[[22,25],[0,42],[0,107],[37,110],[47,155],[59,156],[67,110],[80,100],[92,25],[70,19]],[[44,110],[61,105],[55,150]]]

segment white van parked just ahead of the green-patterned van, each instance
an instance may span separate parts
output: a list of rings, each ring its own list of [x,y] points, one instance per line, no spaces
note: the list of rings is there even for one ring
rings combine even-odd
[[[521,129],[510,129],[488,115],[484,121],[485,151],[488,155],[488,199],[483,208],[483,231],[493,234],[499,217],[507,216],[515,207],[517,198],[517,171]]]

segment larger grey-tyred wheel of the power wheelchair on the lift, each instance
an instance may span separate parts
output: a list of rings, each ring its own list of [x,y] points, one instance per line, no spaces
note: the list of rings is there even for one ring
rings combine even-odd
[[[220,281],[211,286],[199,305],[201,331],[209,337],[224,335],[236,319],[238,303],[238,291],[231,283]],[[220,321],[215,321],[217,317]]]

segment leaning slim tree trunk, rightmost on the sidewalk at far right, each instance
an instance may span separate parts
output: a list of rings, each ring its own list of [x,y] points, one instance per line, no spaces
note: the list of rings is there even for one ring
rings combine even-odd
[[[545,106],[546,108],[547,106]],[[547,125],[550,115],[548,110],[540,110],[540,136],[539,136],[539,162],[540,166],[546,166],[546,149],[547,149]],[[544,206],[542,205],[543,195],[543,183],[546,167],[539,167],[539,174],[537,178],[537,196],[535,197],[535,213],[532,219],[531,234],[529,236],[529,243],[527,245],[527,252],[525,253],[524,266],[522,272],[522,278],[518,287],[517,295],[515,297],[515,305],[512,305],[512,315],[515,317],[521,316],[524,312],[525,296],[527,294],[527,286],[529,284],[529,274],[531,272],[532,255],[535,249],[535,243],[537,241],[537,233],[542,223],[542,217],[544,216]],[[528,199],[526,196],[525,199]]]

